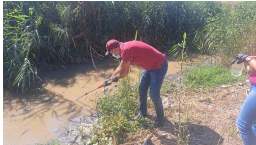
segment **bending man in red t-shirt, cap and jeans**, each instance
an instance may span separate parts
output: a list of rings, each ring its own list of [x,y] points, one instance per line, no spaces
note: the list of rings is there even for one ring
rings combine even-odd
[[[110,40],[106,44],[106,49],[106,55],[112,54],[116,58],[122,58],[115,73],[107,81],[118,82],[118,79],[127,76],[131,64],[143,68],[139,84],[139,113],[134,120],[147,116],[147,97],[150,87],[150,98],[155,104],[157,114],[155,126],[162,126],[164,113],[160,89],[168,68],[165,55],[152,46],[139,41],[122,43]]]

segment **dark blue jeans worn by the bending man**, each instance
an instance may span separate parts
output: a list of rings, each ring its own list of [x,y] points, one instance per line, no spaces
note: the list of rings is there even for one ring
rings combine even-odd
[[[147,71],[143,69],[139,84],[139,114],[147,115],[148,89],[150,87],[150,98],[155,104],[157,116],[163,116],[163,104],[160,90],[164,77],[167,73],[168,62],[165,59],[162,66],[156,70]]]

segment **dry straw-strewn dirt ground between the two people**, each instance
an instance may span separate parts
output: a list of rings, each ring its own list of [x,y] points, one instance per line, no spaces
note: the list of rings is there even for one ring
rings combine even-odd
[[[241,82],[208,92],[182,91],[180,118],[181,122],[185,123],[184,127],[188,118],[187,128],[190,135],[188,144],[242,144],[236,127],[236,118],[249,88],[249,82]],[[178,92],[169,92],[162,97],[162,99],[168,98],[170,102],[170,107],[164,111],[166,120],[163,127],[141,131],[141,139],[125,144],[142,144],[146,138],[150,138],[154,144],[178,144]],[[156,115],[154,107],[150,104],[148,111],[153,119]]]

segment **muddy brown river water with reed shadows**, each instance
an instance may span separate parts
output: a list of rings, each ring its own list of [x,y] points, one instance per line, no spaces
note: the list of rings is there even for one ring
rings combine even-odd
[[[194,61],[205,60],[194,55]],[[177,72],[180,63],[168,61],[168,72]],[[4,91],[4,144],[35,144],[57,139],[70,119],[95,113],[94,102],[102,96],[98,89],[78,101],[74,98],[96,88],[108,79],[118,66],[109,58],[86,64],[68,65],[52,71],[39,71],[42,82],[34,91],[21,94]],[[139,68],[132,66],[131,78],[138,81]],[[113,86],[113,85],[112,85]],[[111,86],[110,86],[111,87]],[[110,88],[109,87],[109,88]],[[113,88],[115,90],[115,88]]]

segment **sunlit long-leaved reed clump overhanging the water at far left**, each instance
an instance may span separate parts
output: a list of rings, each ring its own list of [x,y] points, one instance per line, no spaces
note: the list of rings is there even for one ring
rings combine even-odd
[[[42,17],[34,13],[34,8],[25,14],[23,7],[22,2],[5,3],[3,35],[4,84],[22,92],[38,79],[37,67],[33,64],[36,55],[32,50],[40,45],[37,28],[42,20]]]

